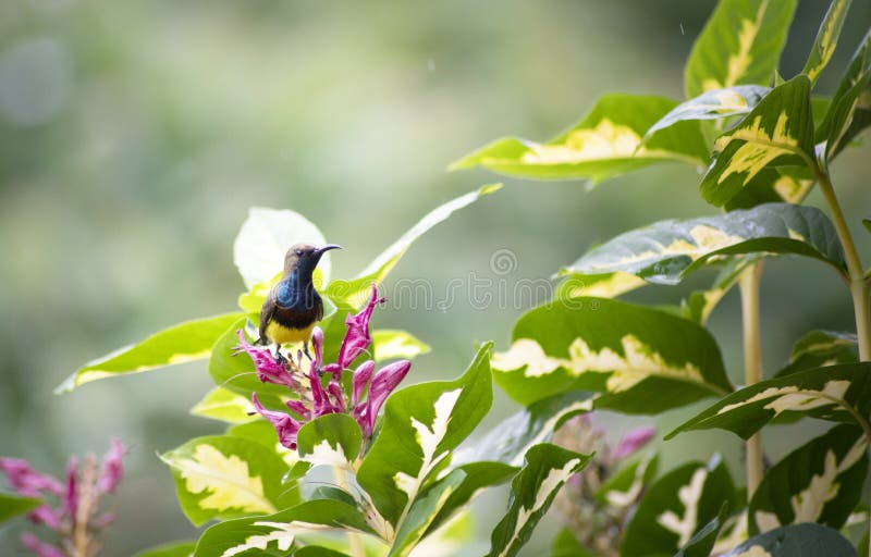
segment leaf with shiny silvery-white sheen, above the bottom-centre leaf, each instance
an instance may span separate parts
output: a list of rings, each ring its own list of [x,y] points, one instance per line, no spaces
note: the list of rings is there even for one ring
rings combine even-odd
[[[482,438],[470,440],[454,451],[453,462],[474,463],[496,460],[511,466],[523,465],[533,445],[550,442],[553,432],[573,416],[592,409],[592,393],[569,391],[538,400],[502,420]]]

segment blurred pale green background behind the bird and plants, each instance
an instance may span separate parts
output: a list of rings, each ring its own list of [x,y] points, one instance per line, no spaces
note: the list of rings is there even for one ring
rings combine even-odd
[[[802,0],[782,73],[803,65],[827,2]],[[871,4],[854,2],[821,78],[831,91]],[[266,2],[12,0],[0,3],[0,455],[60,473],[66,454],[132,446],[105,555],[195,536],[156,451],[221,424],[187,410],[210,388],[204,363],[52,388],[77,366],[175,322],[233,310],[242,282],[232,240],[249,206],[291,208],[345,246],[333,274],[353,276],[437,205],[499,178],[449,174],[453,160],[499,136],[547,139],[606,91],[683,96],[683,63],[713,1]],[[868,148],[833,172],[866,262]],[[696,169],[661,165],[608,182],[507,180],[406,255],[388,282],[550,276],[591,244],[673,216],[714,213]],[[819,205],[814,194],[811,203]],[[507,249],[516,268],[491,269]],[[633,296],[677,301],[713,274]],[[823,265],[766,264],[764,364],[771,372],[814,326],[852,329],[849,296]],[[410,306],[410,305],[408,305]],[[525,307],[522,307],[525,306]],[[391,305],[377,326],[405,327],[433,351],[406,381],[454,377],[474,344],[504,348],[529,302]],[[741,354],[737,298],[711,325],[733,379]],[[514,411],[496,393],[487,424]],[[692,409],[660,420],[667,429]],[[643,419],[610,417],[617,435]],[[775,431],[773,450],[814,425]],[[666,465],[740,446],[687,434]],[[775,455],[776,456],[776,455]],[[740,468],[735,469],[740,478]],[[481,531],[504,494],[476,507]],[[492,513],[490,512],[492,511]],[[19,521],[21,522],[21,521]],[[20,523],[0,530],[15,555]],[[486,540],[486,537],[484,537]],[[535,555],[538,545],[528,549]]]

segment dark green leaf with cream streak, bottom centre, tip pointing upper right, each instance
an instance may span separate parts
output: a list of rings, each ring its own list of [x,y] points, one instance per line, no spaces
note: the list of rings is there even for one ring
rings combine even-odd
[[[530,448],[524,468],[511,483],[508,511],[490,536],[488,556],[517,555],[563,484],[582,470],[590,458],[591,455],[579,455],[548,443]]]

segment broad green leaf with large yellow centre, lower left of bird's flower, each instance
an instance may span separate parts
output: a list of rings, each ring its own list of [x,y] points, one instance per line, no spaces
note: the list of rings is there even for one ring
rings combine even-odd
[[[284,503],[287,466],[242,437],[196,437],[160,455],[172,469],[179,504],[195,525],[212,519],[269,515]]]

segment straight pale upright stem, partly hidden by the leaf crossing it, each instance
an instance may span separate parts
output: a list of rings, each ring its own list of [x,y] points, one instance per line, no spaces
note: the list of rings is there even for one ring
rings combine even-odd
[[[741,294],[741,329],[744,330],[744,377],[745,386],[762,380],[762,363],[759,343],[759,282],[762,277],[762,261],[741,272],[738,288]],[[762,481],[762,434],[756,433],[747,440],[747,500],[750,500]]]

